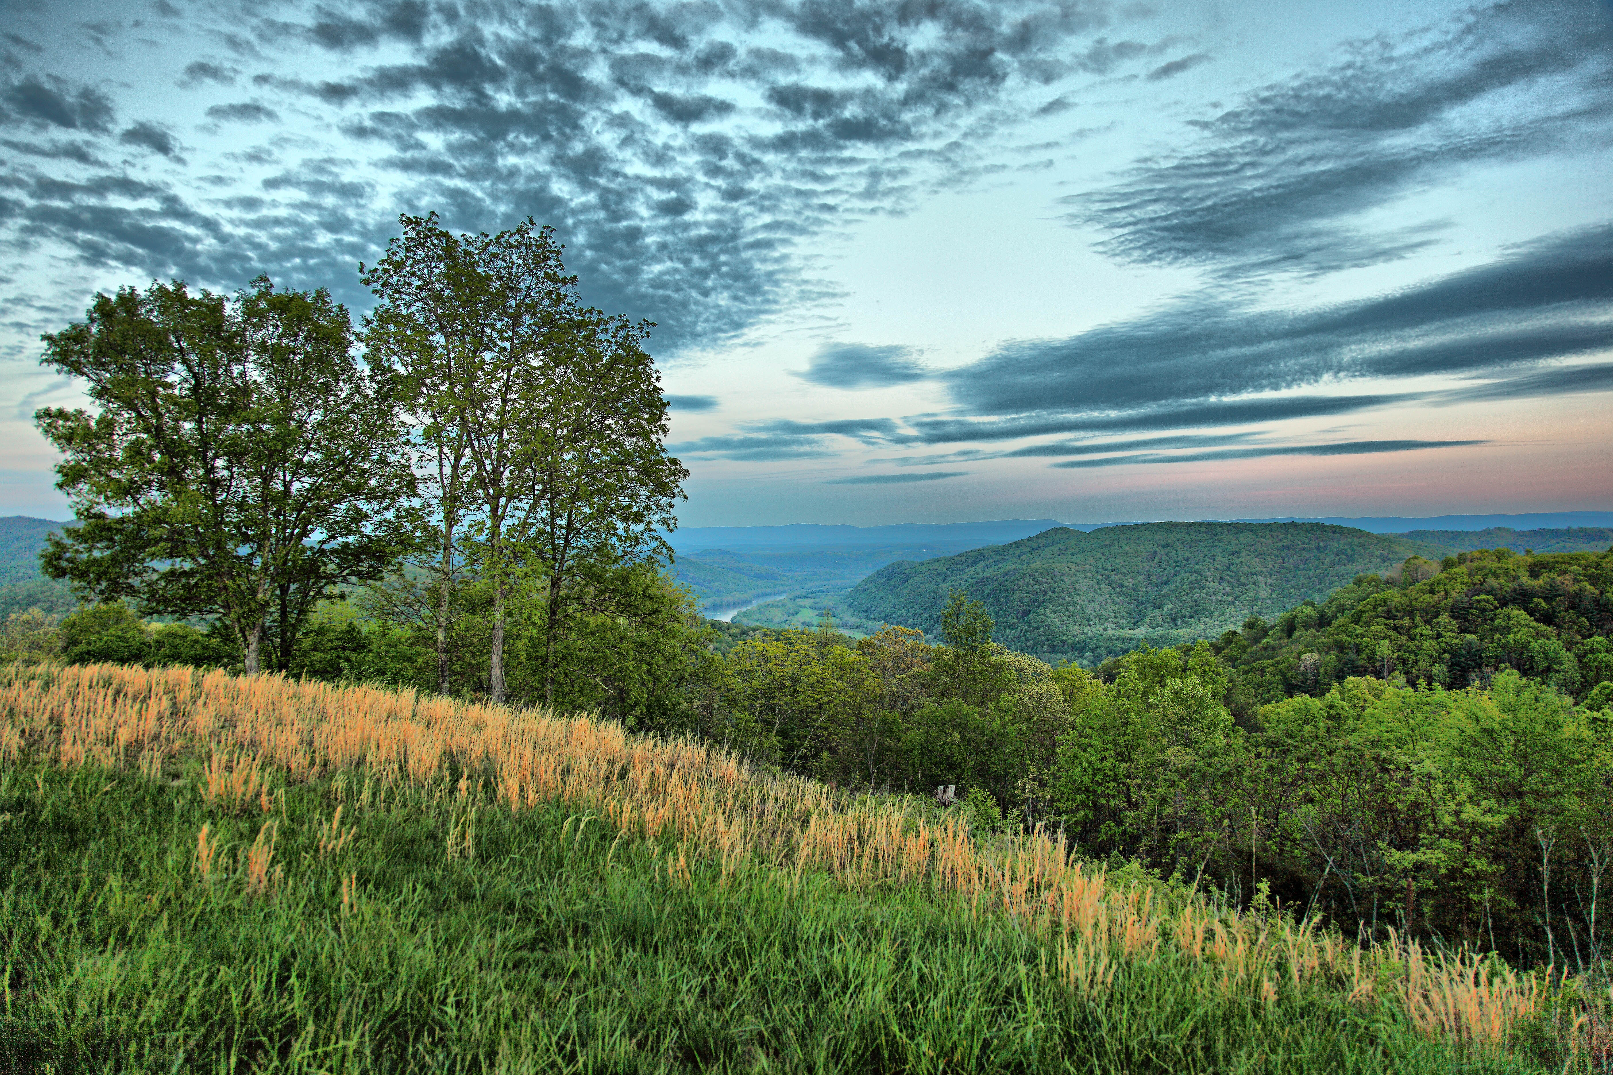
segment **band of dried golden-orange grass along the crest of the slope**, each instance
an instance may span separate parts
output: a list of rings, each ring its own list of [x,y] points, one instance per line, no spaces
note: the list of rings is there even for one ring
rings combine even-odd
[[[1363,951],[1308,924],[1190,903],[1166,912],[1144,885],[1111,883],[1069,857],[1063,835],[1040,830],[976,840],[958,816],[934,820],[921,806],[836,796],[794,777],[750,770],[690,740],[650,740],[590,717],[518,712],[421,698],[376,687],[334,687],[274,675],[119,666],[16,666],[0,672],[0,759],[34,753],[60,766],[87,761],[160,772],[161,761],[206,757],[202,793],[240,809],[273,798],[265,770],[290,782],[363,767],[387,783],[427,785],[458,774],[458,799],[486,777],[513,811],[563,803],[600,816],[623,835],[666,840],[668,877],[692,883],[690,859],[721,862],[726,878],[747,862],[832,874],[850,888],[929,883],[973,912],[1021,917],[1053,941],[1055,980],[1076,991],[1105,988],[1126,961],[1161,948],[1205,967],[1227,996],[1276,999],[1319,980],[1358,1004],[1395,1002],[1429,1036],[1503,1046],[1539,1019],[1539,978],[1469,957],[1429,956],[1415,943]],[[479,774],[479,775],[477,775]],[[365,796],[369,796],[366,782]],[[366,799],[361,799],[366,801]],[[340,809],[319,853],[353,838]],[[448,857],[474,857],[474,811],[450,825]],[[271,894],[274,822],[245,851],[248,891]],[[208,828],[195,869],[218,870]],[[353,878],[342,907],[353,906]],[[1597,1035],[1576,1035],[1587,1043]],[[1605,1036],[1605,1035],[1603,1035]],[[1587,1044],[1595,1049],[1595,1044]]]

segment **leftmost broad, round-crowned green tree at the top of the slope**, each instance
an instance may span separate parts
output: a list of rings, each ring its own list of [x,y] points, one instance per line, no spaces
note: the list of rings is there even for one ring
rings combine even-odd
[[[44,340],[42,364],[98,408],[34,416],[79,519],[50,535],[45,574],[145,614],[223,616],[250,675],[266,640],[290,667],[331,587],[397,561],[415,480],[392,377],[356,363],[324,290],[121,288]]]

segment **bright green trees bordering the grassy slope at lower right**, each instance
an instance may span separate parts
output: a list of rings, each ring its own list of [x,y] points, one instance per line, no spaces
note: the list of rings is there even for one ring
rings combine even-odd
[[[1600,959],[1613,720],[1508,669],[1463,691],[1348,679],[1236,727],[1207,656],[1129,654],[1089,691],[1053,775],[1082,846],[1265,882],[1348,928]]]

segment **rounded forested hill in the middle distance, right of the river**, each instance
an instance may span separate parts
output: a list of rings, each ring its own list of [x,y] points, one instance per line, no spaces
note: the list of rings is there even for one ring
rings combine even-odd
[[[1432,551],[1319,522],[1150,522],[1090,533],[1060,527],[1011,545],[889,564],[860,582],[847,604],[934,635],[947,595],[963,591],[986,604],[1008,648],[1092,664],[1140,645],[1213,637]]]

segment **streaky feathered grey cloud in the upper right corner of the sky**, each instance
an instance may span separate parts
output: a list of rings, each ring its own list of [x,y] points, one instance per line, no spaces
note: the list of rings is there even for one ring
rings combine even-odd
[[[1100,248],[1121,261],[1331,272],[1439,240],[1437,221],[1371,232],[1352,219],[1398,195],[1613,139],[1613,34],[1594,0],[1492,3],[1340,52],[1197,121],[1184,148],[1065,198],[1068,221],[1108,232]]]

